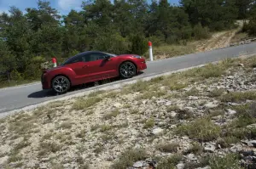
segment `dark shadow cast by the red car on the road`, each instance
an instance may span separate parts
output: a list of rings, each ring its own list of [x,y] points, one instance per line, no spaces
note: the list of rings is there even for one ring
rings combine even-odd
[[[143,74],[143,72],[139,72],[138,75],[142,75],[142,74]],[[90,83],[86,83],[83,85],[71,87],[70,90],[68,91],[68,93],[83,90],[83,89],[90,88],[90,87],[101,86],[103,84],[108,84],[111,82],[119,82],[121,80],[122,80],[121,78],[115,77],[115,78],[106,79],[106,80],[103,80],[100,82],[90,82]],[[64,95],[66,95],[66,94],[64,94]],[[39,99],[39,98],[47,98],[47,97],[54,97],[54,96],[56,96],[56,94],[51,90],[41,90],[41,91],[29,94],[27,96],[27,98]]]

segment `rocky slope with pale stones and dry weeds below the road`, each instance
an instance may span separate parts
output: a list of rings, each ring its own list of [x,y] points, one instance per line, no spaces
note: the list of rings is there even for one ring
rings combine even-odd
[[[0,120],[0,168],[255,168],[256,57]]]

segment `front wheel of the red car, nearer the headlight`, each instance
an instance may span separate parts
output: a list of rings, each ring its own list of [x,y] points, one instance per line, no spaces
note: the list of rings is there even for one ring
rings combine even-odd
[[[137,75],[137,67],[130,61],[125,61],[119,66],[119,76],[124,79]]]

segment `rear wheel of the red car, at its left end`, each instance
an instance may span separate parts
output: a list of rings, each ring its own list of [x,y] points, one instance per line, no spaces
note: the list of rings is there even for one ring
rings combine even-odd
[[[70,89],[70,81],[66,76],[55,76],[51,82],[53,91],[57,94],[67,93]]]

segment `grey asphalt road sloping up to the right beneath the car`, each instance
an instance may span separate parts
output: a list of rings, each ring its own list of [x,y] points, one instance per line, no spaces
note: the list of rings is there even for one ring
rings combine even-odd
[[[151,76],[167,71],[189,68],[191,66],[207,64],[225,58],[235,58],[241,54],[256,54],[256,43],[213,50],[207,53],[188,54],[172,59],[155,60],[148,62],[148,69],[143,70],[143,74],[135,77]],[[132,78],[131,80],[133,80]],[[109,83],[119,83],[115,81]],[[27,105],[38,104],[50,99],[59,98],[73,93],[80,93],[85,90],[90,90],[92,87],[74,88],[72,92],[61,96],[54,96],[52,93],[42,91],[40,83],[34,83],[20,87],[7,87],[0,89],[0,113],[16,110]]]

